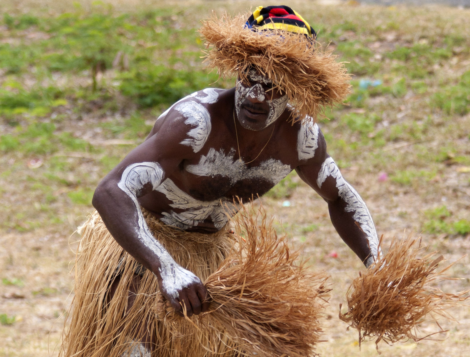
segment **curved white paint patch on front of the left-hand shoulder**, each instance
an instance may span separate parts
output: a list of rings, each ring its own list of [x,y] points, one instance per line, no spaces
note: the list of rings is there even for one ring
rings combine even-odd
[[[194,152],[198,152],[204,146],[211,133],[211,116],[207,109],[195,101],[183,102],[175,106],[185,118],[185,124],[195,126],[196,128],[188,131],[188,137],[180,144],[191,146]]]

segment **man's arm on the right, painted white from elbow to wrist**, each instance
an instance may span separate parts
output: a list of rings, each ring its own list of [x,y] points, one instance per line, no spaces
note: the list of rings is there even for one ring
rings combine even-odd
[[[317,133],[313,157],[300,161],[296,171],[328,203],[333,226],[368,267],[378,254],[374,222],[359,193],[345,181],[335,161],[326,152],[325,139],[318,129]]]

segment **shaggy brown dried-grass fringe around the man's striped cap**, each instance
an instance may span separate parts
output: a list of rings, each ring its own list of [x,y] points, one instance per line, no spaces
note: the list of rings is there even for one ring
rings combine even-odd
[[[297,111],[294,120],[311,120],[325,106],[341,103],[350,90],[350,75],[331,52],[321,52],[305,36],[282,30],[244,29],[249,15],[231,18],[213,16],[203,21],[199,32],[212,46],[205,56],[209,68],[219,75],[237,75],[242,80],[254,66],[274,81]],[[308,116],[307,116],[308,115]]]

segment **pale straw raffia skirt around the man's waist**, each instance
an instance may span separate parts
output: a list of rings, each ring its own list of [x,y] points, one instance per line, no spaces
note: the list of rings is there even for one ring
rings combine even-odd
[[[174,260],[202,281],[218,269],[234,245],[233,233],[227,227],[214,234],[183,232],[145,211],[144,217]],[[144,335],[155,342],[152,357],[238,356],[234,343],[220,330],[211,333],[194,328],[189,320],[168,319],[157,278],[116,243],[97,212],[78,231],[82,239],[75,266],[75,296],[60,356],[126,356]],[[136,274],[141,279],[133,305],[128,308]],[[118,287],[109,300],[111,284],[117,277]]]

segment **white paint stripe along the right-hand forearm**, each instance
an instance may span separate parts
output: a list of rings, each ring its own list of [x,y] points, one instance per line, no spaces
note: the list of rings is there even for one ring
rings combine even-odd
[[[327,158],[321,165],[317,178],[317,185],[319,188],[321,188],[321,185],[325,182],[328,176],[332,176],[336,179],[336,187],[339,191],[339,197],[346,202],[345,212],[354,212],[352,215],[353,220],[359,223],[360,228],[366,235],[370,252],[373,255],[373,258],[369,258],[366,263],[366,266],[369,266],[377,257],[377,254],[379,254],[377,232],[369,210],[362,198],[359,196],[359,193],[357,193],[357,191],[345,181],[332,158]]]

